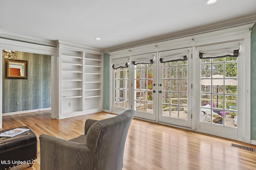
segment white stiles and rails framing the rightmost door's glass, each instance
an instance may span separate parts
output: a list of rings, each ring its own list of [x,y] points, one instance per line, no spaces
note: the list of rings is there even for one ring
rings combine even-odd
[[[211,134],[211,135],[216,135],[216,136],[220,136],[220,137],[226,137],[226,138],[230,138],[230,139],[243,139],[243,131],[244,131],[244,121],[242,121],[242,119],[244,118],[244,109],[245,109],[245,76],[243,76],[245,74],[244,70],[246,70],[245,65],[244,65],[244,51],[242,50],[244,47],[244,43],[243,41],[232,41],[232,42],[228,42],[228,43],[220,43],[218,45],[224,45],[224,44],[232,44],[232,43],[240,43],[240,52],[239,52],[239,56],[238,56],[238,100],[237,100],[237,104],[238,104],[238,127],[230,127],[230,126],[225,126],[225,122],[223,122],[223,125],[218,125],[215,123],[207,123],[207,122],[200,122],[200,86],[196,86],[195,88],[198,88],[198,94],[197,94],[197,98],[199,101],[198,104],[196,106],[197,110],[195,111],[196,113],[196,131],[200,131],[202,133],[207,133],[207,134]],[[208,45],[208,47],[212,47],[214,48],[214,45]],[[196,57],[194,57],[194,63],[196,63],[196,82],[197,84],[200,84],[201,81],[201,77],[200,77],[200,58],[198,55],[198,48],[200,48],[200,46],[196,47]],[[199,68],[199,69],[198,69]],[[199,109],[199,110],[198,110]],[[225,115],[225,112],[224,112]],[[224,117],[225,120],[225,117]],[[240,122],[241,121],[241,122]]]

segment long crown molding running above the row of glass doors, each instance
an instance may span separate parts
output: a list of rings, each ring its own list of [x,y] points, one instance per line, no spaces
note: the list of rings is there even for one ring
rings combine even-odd
[[[256,22],[256,14],[252,14],[252,15],[249,15],[249,16],[236,18],[234,20],[229,20],[229,21],[224,21],[224,22],[215,23],[215,24],[211,24],[211,25],[206,25],[206,26],[203,26],[203,27],[195,28],[195,29],[190,29],[190,30],[186,30],[186,31],[182,31],[182,32],[163,35],[163,36],[160,36],[160,37],[154,37],[152,39],[136,41],[136,42],[133,42],[133,43],[128,43],[128,44],[124,44],[124,45],[104,49],[104,53],[119,51],[119,50],[122,50],[122,49],[128,49],[128,48],[138,47],[138,46],[142,46],[142,45],[148,45],[148,44],[151,44],[151,43],[158,43],[158,42],[162,42],[162,41],[168,41],[168,40],[172,40],[172,39],[178,39],[178,38],[182,38],[182,37],[188,37],[188,36],[191,36],[191,35],[198,35],[198,34],[202,34],[202,33],[218,31],[218,30],[221,30],[221,29],[246,25],[246,24],[255,23],[255,22]]]

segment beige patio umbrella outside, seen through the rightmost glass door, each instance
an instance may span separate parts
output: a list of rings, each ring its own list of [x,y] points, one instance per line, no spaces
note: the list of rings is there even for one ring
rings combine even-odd
[[[202,79],[201,80],[201,85],[210,86],[211,85],[211,80],[212,80],[212,86],[217,86],[217,93],[218,93],[218,86],[223,86],[224,85],[223,75],[216,74],[216,75],[212,75],[212,79],[211,78]],[[225,79],[225,86],[237,86],[237,80],[235,80],[235,79]],[[217,104],[216,105],[218,107],[218,95],[217,95]]]

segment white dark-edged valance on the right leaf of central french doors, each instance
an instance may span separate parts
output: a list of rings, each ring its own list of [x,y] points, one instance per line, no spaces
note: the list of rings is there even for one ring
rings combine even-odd
[[[160,52],[160,62],[166,63],[171,61],[184,61],[188,60],[188,50],[171,50]]]

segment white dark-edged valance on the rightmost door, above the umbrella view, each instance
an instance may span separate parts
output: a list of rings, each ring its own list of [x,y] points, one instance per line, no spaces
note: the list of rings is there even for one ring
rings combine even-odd
[[[198,52],[200,59],[214,59],[220,57],[238,57],[239,49],[240,43],[232,43],[200,47]]]

